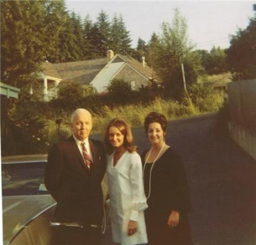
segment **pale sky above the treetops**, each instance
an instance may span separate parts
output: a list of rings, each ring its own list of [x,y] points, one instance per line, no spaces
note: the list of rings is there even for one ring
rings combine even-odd
[[[153,32],[161,32],[163,22],[171,23],[177,7],[187,19],[188,35],[196,49],[210,50],[213,45],[228,48],[230,35],[238,28],[246,28],[254,16],[255,1],[75,1],[65,0],[67,9],[82,19],[89,14],[93,22],[101,10],[110,20],[114,13],[122,14],[132,47],[138,38],[148,42]]]

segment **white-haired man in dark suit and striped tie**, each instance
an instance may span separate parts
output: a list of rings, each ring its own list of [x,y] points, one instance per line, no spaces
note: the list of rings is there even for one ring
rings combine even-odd
[[[51,244],[100,244],[104,146],[89,138],[92,116],[86,109],[73,112],[71,129],[73,135],[49,151],[45,184],[57,202],[56,221],[80,223],[85,228],[60,226]]]

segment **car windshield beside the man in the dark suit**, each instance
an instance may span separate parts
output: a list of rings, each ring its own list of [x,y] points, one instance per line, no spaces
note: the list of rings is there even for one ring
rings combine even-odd
[[[2,164],[2,195],[42,195],[46,162]]]

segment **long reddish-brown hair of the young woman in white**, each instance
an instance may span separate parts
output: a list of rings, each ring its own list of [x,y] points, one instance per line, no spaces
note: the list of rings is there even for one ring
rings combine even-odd
[[[130,153],[137,150],[137,147],[133,146],[133,135],[131,134],[131,128],[127,124],[127,122],[124,119],[121,118],[115,118],[112,121],[109,122],[109,125],[106,127],[105,131],[105,138],[104,143],[106,147],[106,152],[108,154],[113,153],[114,147],[109,142],[109,129],[115,126],[119,129],[121,134],[124,136],[123,139],[123,146],[129,151]]]

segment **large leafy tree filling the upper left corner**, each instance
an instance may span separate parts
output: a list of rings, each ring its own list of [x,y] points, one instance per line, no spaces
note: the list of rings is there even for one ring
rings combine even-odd
[[[36,82],[47,55],[43,1],[1,1],[1,81],[18,87]]]

